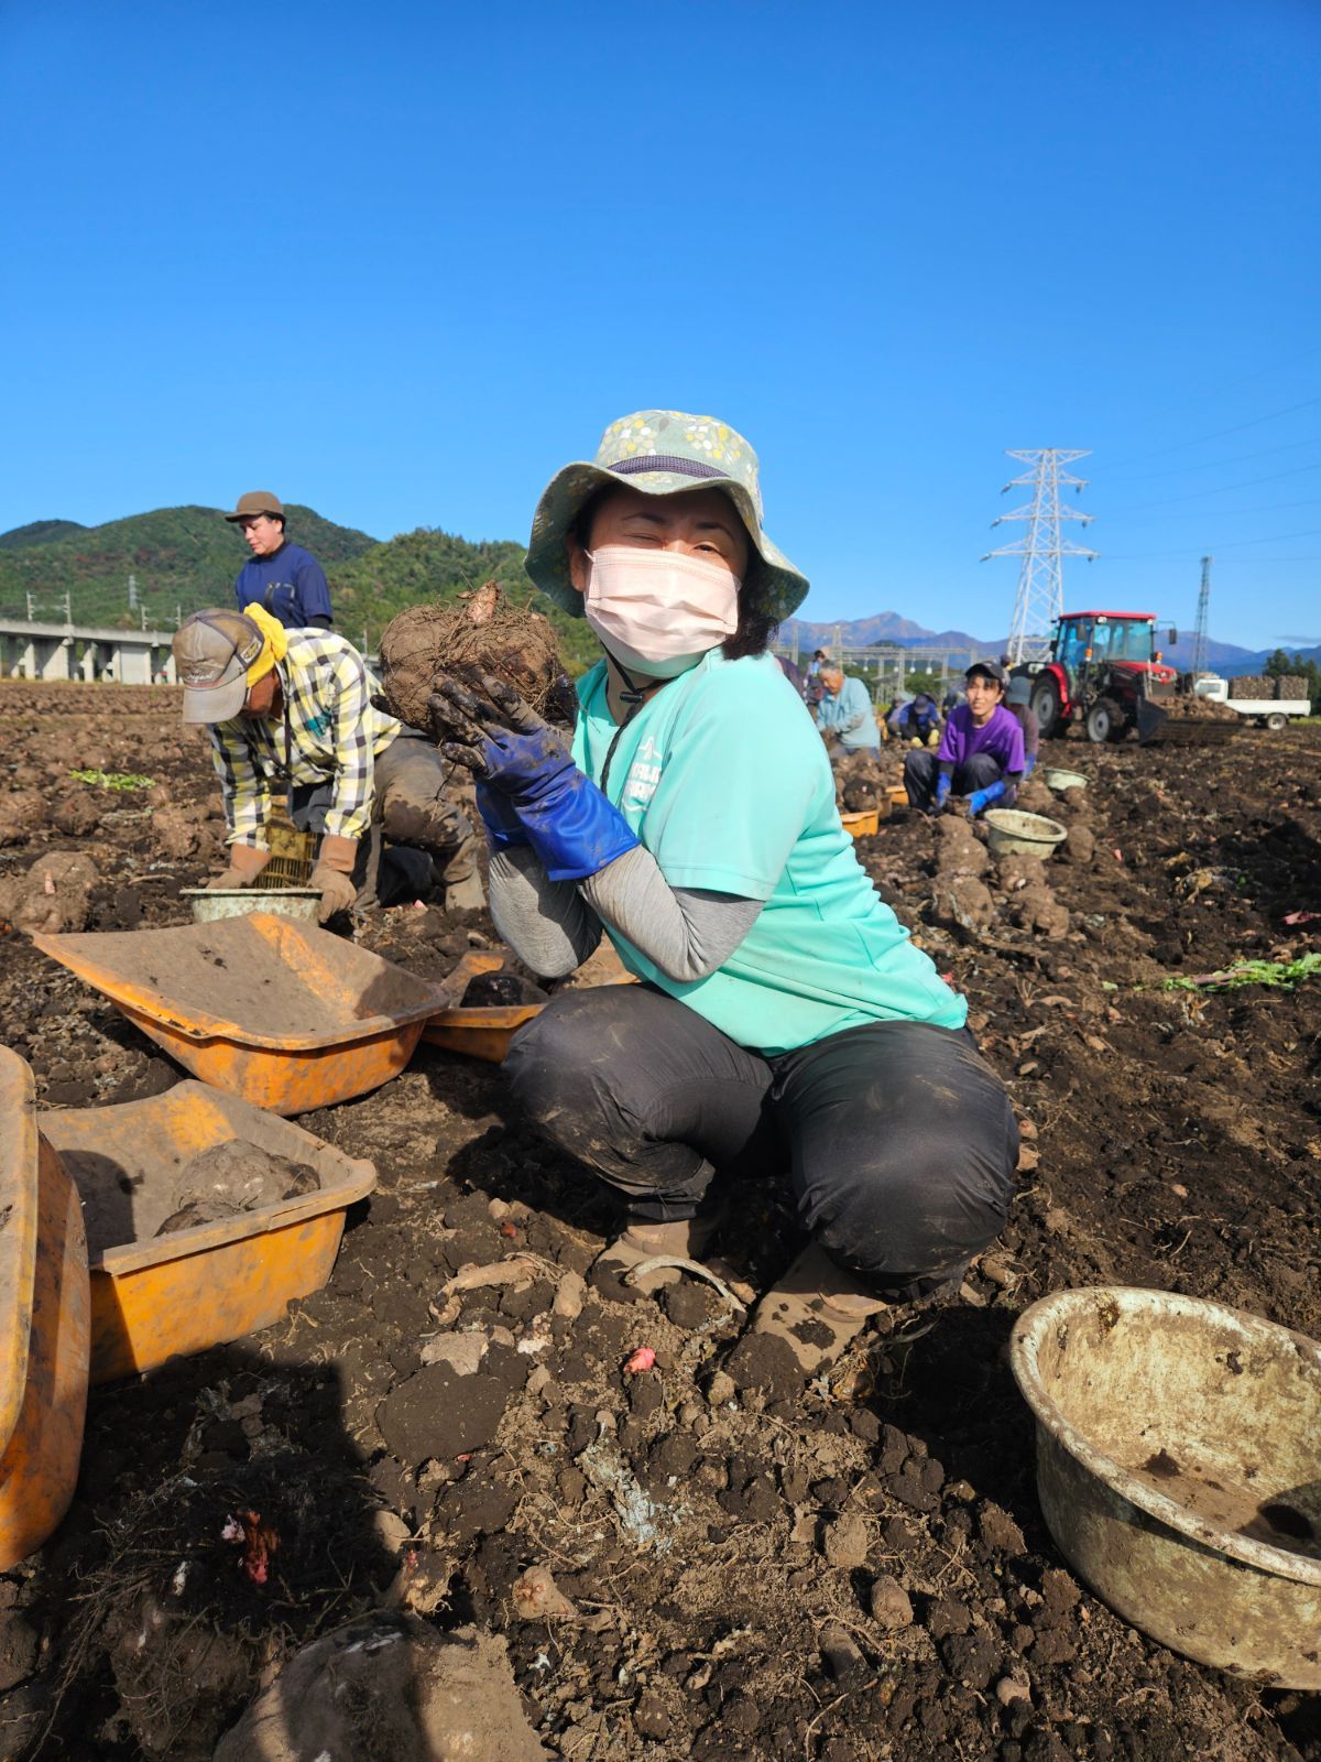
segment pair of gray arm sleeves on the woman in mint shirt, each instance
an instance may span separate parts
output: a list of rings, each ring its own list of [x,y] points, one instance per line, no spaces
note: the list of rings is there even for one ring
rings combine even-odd
[[[601,941],[602,920],[678,981],[705,980],[733,955],[763,900],[671,888],[638,846],[587,881],[551,881],[525,844],[491,853],[491,918],[518,959],[567,978]]]

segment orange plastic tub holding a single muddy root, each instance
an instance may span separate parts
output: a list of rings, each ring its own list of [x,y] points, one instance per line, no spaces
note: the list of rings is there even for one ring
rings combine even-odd
[[[377,1179],[372,1163],[196,1082],[150,1101],[42,1114],[42,1131],[83,1198],[93,1383],[278,1322],[294,1297],[326,1283],[345,1209]],[[155,1235],[173,1205],[171,1177],[231,1138],[312,1163],[321,1191]]]

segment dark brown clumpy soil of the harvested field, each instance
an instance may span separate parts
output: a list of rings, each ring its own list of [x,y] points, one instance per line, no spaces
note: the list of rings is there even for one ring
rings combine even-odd
[[[287,1320],[93,1390],[72,1512],[0,1577],[0,1758],[210,1757],[298,1646],[379,1607],[504,1640],[546,1753],[578,1762],[1321,1758],[1314,1697],[1187,1663],[1073,1577],[1006,1360],[1027,1304],[1103,1281],[1321,1337],[1321,980],[1205,983],[1321,950],[1319,759],[1314,728],[1050,742],[1089,786],[1029,786],[1069,832],[1044,869],[953,818],[858,846],[967,994],[1025,1152],[962,1300],[881,1318],[805,1392],[734,1385],[705,1283],[583,1290],[611,1209],[498,1068],[421,1048],[303,1115],[379,1188]],[[0,883],[77,853],[77,929],[183,923],[220,830],[174,692],[0,684]],[[359,941],[428,978],[498,946],[416,907]],[[183,1075],[21,930],[0,1020],[42,1108]],[[733,1200],[720,1251],[761,1292],[800,1246],[775,1170]],[[467,1267],[502,1283],[451,1284]]]

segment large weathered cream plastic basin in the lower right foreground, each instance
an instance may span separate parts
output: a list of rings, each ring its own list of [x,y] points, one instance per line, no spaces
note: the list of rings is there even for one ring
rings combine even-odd
[[[1011,1364],[1060,1552],[1199,1663],[1321,1688],[1321,1346],[1222,1304],[1055,1292]]]

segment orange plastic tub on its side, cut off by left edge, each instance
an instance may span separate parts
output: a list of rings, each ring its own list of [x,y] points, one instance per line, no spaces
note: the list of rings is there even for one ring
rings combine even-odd
[[[41,1547],[74,1496],[88,1314],[77,1195],[37,1131],[32,1071],[0,1047],[0,1572]]]

